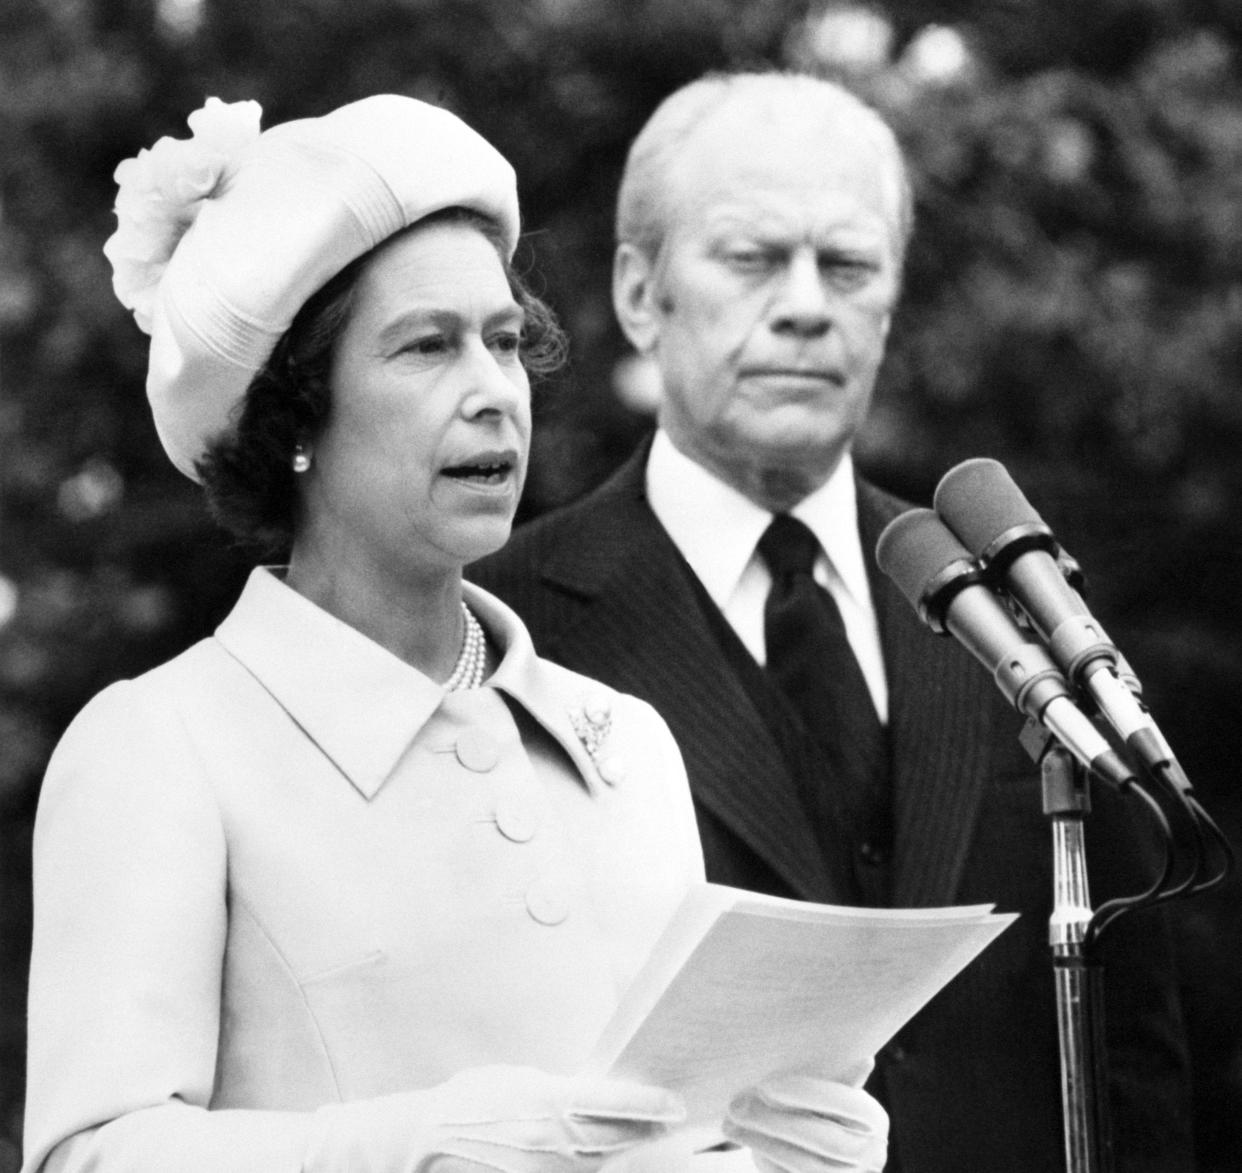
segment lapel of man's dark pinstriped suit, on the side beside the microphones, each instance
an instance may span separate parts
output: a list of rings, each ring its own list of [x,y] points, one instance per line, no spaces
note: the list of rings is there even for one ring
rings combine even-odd
[[[903,508],[859,483],[859,533],[872,568],[889,681],[893,901],[898,906],[950,903],[956,898],[992,764],[997,706],[987,672],[955,641],[925,628],[874,567],[879,532]]]

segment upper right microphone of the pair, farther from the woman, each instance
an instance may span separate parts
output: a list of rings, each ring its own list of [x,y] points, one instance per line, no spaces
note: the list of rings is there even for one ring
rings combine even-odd
[[[1090,696],[1144,769],[1187,793],[1190,779],[1135,697],[1138,678],[1066,582],[1057,539],[1005,466],[982,457],[964,461],[944,475],[934,503],[944,523],[979,558],[985,579],[1017,600],[1052,659]]]

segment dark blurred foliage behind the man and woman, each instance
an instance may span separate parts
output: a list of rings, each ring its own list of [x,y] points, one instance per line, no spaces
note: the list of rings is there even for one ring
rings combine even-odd
[[[1242,841],[1240,52],[1236,0],[0,4],[0,1173],[47,754],[93,692],[209,632],[247,569],[149,422],[145,339],[99,251],[122,158],[185,137],[209,94],[271,126],[395,91],[491,138],[574,339],[538,405],[529,517],[648,424],[607,294],[642,121],[708,68],[846,78],[897,128],[919,201],[861,463],[927,503],[956,461],[1002,460]],[[1240,888],[1175,910],[1205,1173],[1242,1168]]]

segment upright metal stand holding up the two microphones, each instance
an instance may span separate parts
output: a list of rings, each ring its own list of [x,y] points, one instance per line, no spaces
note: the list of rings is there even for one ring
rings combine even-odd
[[[1103,967],[1090,956],[1087,939],[1092,907],[1083,841],[1083,821],[1090,810],[1086,770],[1033,722],[1022,741],[1040,764],[1043,813],[1052,826],[1048,944],[1057,988],[1066,1169],[1113,1173]]]

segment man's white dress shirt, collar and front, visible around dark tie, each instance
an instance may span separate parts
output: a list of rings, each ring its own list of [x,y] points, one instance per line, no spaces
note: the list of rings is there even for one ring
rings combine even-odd
[[[771,574],[756,545],[773,514],[679,452],[663,430],[656,432],[647,461],[647,500],[738,637],[765,664],[764,603]],[[876,712],[887,722],[888,683],[848,452],[827,482],[791,512],[820,542],[815,578],[836,600]]]

